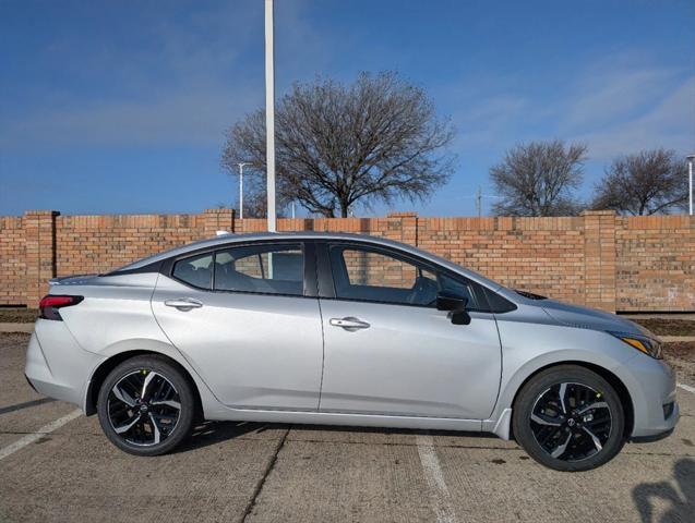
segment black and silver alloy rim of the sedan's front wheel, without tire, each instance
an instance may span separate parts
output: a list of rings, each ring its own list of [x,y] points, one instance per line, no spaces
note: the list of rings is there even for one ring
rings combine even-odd
[[[611,436],[611,409],[602,393],[576,382],[544,390],[530,415],[536,442],[551,458],[577,462],[603,449]]]

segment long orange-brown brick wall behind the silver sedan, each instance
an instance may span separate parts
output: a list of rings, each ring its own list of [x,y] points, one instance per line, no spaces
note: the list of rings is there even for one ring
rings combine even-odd
[[[217,230],[265,220],[200,215],[0,217],[0,305],[36,306],[53,276],[101,272]],[[280,219],[280,231],[345,231],[417,245],[513,288],[607,311],[695,311],[695,217]]]

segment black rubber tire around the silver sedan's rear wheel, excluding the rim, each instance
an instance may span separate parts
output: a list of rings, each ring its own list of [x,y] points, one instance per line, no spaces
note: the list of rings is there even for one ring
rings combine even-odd
[[[108,394],[113,386],[121,380],[124,376],[131,374],[133,370],[140,370],[146,368],[151,372],[156,372],[165,376],[179,393],[179,400],[181,403],[181,412],[177,425],[164,441],[151,447],[141,447],[133,443],[129,443],[121,436],[116,434],[116,430],[111,426],[111,422],[108,415]],[[181,441],[183,441],[191,433],[194,414],[195,414],[195,401],[192,393],[192,388],[189,380],[183,376],[181,370],[168,363],[166,360],[157,356],[136,356],[131,360],[119,364],[104,380],[101,388],[99,389],[99,396],[97,400],[97,413],[101,429],[108,437],[108,439],[116,445],[119,449],[135,455],[159,455],[170,452]]]

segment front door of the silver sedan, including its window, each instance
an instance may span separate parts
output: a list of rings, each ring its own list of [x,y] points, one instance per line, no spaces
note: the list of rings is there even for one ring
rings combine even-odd
[[[321,412],[484,419],[496,401],[501,345],[477,283],[403,253],[335,243],[335,297],[322,299]],[[479,287],[479,285],[478,285]],[[436,311],[440,290],[469,303],[469,325]]]

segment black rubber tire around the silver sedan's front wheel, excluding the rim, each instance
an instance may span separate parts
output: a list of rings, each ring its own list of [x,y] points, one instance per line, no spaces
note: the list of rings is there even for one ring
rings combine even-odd
[[[582,461],[568,462],[552,458],[536,441],[530,427],[530,415],[538,397],[559,382],[576,382],[600,391],[608,403],[612,427],[602,450]],[[529,380],[519,391],[514,404],[513,430],[517,442],[539,463],[563,472],[579,472],[596,469],[607,463],[620,452],[625,443],[625,414],[615,389],[598,374],[578,366],[559,366],[543,370]]]

